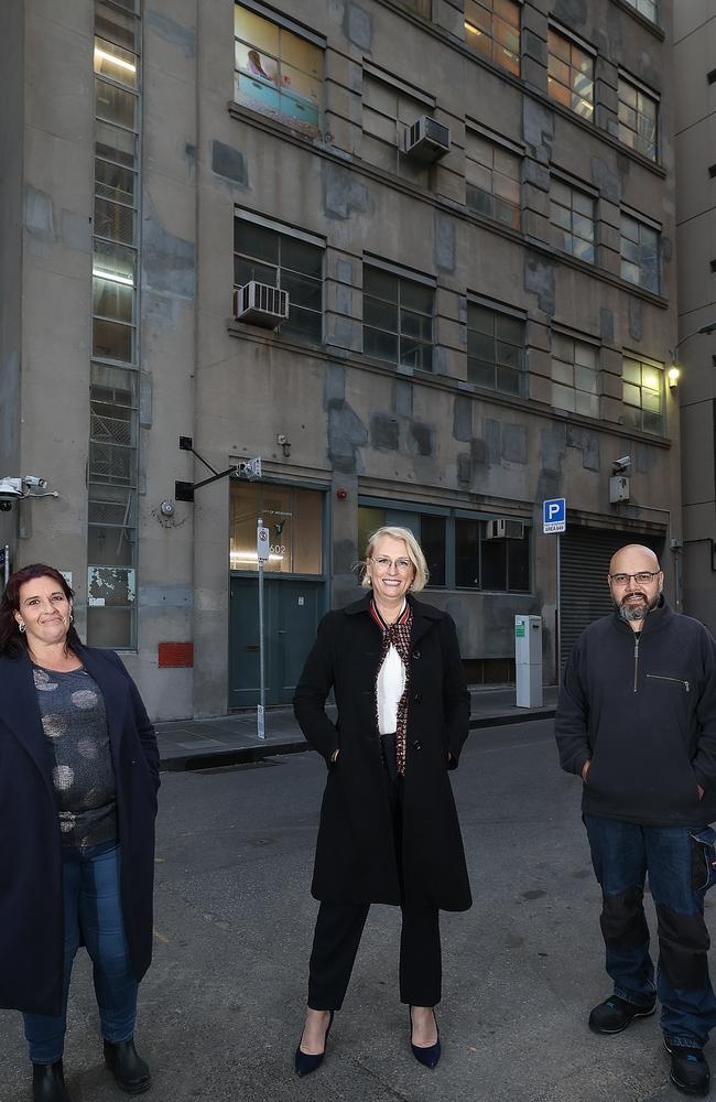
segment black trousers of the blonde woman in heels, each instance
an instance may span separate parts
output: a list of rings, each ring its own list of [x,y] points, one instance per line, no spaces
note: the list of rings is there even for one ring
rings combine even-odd
[[[395,776],[394,756],[387,755],[393,840],[402,895],[403,778]],[[392,768],[391,768],[392,766]],[[324,900],[318,909],[308,969],[308,1006],[339,1011],[352,971],[370,904]],[[441,1001],[442,960],[440,911],[401,904],[400,998],[411,1006],[436,1006]]]

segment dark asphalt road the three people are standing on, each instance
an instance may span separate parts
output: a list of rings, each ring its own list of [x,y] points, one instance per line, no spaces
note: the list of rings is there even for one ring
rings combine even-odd
[[[599,1038],[609,992],[579,785],[552,723],[474,733],[453,774],[475,905],[443,917],[443,1059],[413,1059],[397,993],[398,912],[375,907],[323,1067],[293,1072],[317,905],[308,894],[325,777],[313,753],[164,774],[154,963],[138,1048],[161,1102],[663,1102],[657,1017]],[[716,896],[715,896],[716,898]],[[1,963],[0,963],[1,966]],[[123,1098],[101,1062],[84,952],[65,1069],[74,1102]],[[30,1098],[19,1014],[0,1012],[0,1100]]]

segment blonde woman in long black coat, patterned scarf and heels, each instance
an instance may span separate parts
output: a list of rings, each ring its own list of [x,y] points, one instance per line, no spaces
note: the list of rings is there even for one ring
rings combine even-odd
[[[402,909],[400,997],[411,1047],[428,1068],[440,1059],[438,912],[471,905],[447,776],[467,737],[470,698],[455,624],[414,597],[426,580],[412,532],[375,532],[362,580],[370,592],[323,618],[296,689],[301,728],[328,766],[300,1076],[323,1060],[371,903]],[[335,725],[325,712],[332,689]]]

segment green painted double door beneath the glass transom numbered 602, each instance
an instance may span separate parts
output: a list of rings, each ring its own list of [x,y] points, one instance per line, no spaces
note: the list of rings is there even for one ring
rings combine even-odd
[[[323,611],[323,582],[265,577],[265,702],[290,704]],[[229,707],[259,702],[259,582],[231,577]]]

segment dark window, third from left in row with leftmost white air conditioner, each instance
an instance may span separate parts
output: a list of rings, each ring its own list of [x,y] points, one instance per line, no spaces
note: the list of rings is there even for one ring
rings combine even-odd
[[[502,395],[527,395],[524,322],[477,303],[467,305],[467,378]]]

